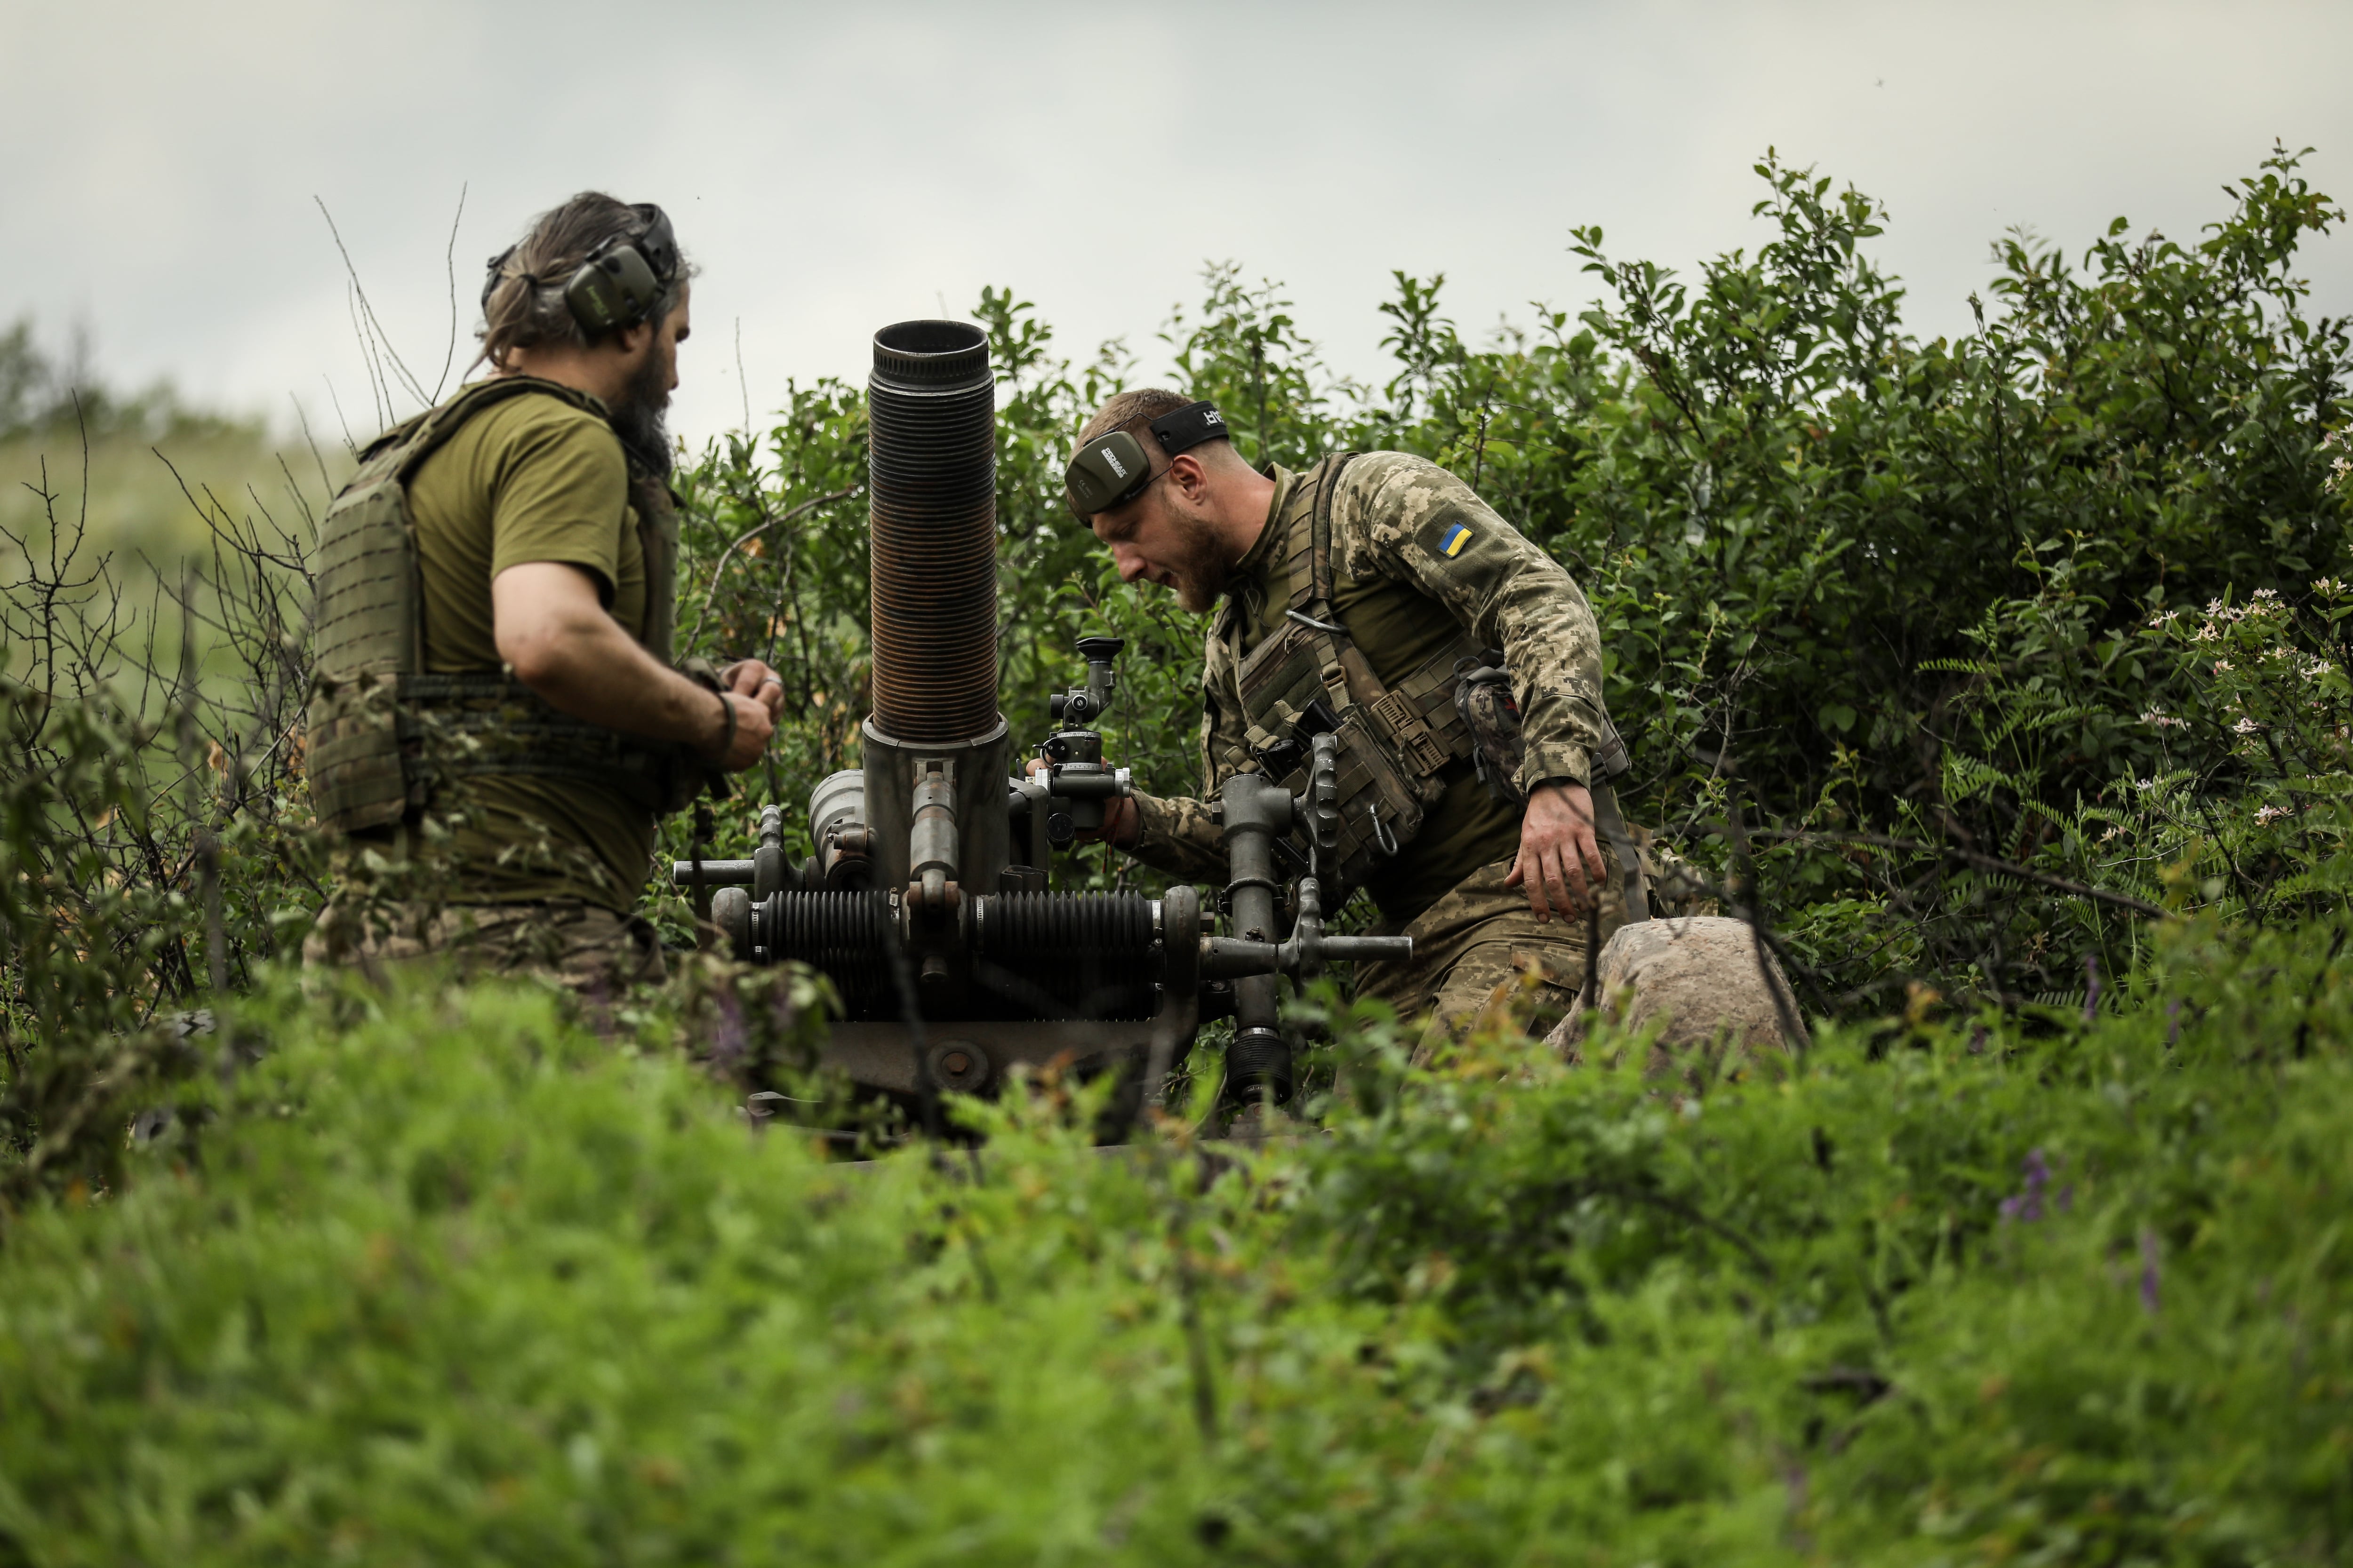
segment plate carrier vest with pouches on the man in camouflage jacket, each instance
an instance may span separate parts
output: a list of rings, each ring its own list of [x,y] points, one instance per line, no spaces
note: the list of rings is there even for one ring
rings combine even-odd
[[[1489,790],[1499,799],[1520,802],[1508,783],[1520,762],[1518,710],[1511,710],[1508,726],[1475,729],[1473,717],[1508,708],[1508,696],[1497,703],[1489,691],[1478,691],[1489,701],[1457,701],[1466,679],[1482,686],[1501,682],[1501,654],[1457,632],[1395,686],[1384,686],[1332,611],[1332,498],[1353,456],[1337,451],[1299,475],[1275,520],[1289,581],[1280,630],[1245,658],[1240,607],[1226,616],[1245,741],[1259,766],[1297,795],[1306,790],[1308,738],[1339,736],[1341,825],[1337,889],[1327,891],[1327,907],[1339,907],[1351,889],[1362,886],[1377,858],[1395,856],[1421,832],[1428,806],[1445,792],[1440,773],[1449,762],[1478,757]],[[1497,733],[1487,733],[1489,729]],[[1635,844],[1609,790],[1609,776],[1626,769],[1626,750],[1607,717],[1602,731],[1605,745],[1593,759],[1591,780],[1600,818],[1595,825],[1619,851],[1628,917],[1647,919]]]

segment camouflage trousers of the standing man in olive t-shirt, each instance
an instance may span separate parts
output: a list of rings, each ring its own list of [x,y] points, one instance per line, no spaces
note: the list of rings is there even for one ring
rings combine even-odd
[[[360,905],[336,896],[301,945],[308,969],[384,971],[442,954],[466,973],[534,976],[588,997],[668,978],[652,924],[579,898]]]

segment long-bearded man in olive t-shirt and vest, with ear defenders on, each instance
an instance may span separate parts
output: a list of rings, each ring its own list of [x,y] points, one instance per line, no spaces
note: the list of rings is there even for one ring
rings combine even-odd
[[[760,661],[673,668],[664,416],[692,268],[576,195],[489,261],[492,374],[376,437],[320,524],[306,771],[341,837],[308,961],[459,950],[656,980],[654,825],[767,745]]]

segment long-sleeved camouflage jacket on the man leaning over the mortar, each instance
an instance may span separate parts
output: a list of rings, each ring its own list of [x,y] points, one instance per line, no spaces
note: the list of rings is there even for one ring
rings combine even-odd
[[[1273,470],[1275,496],[1259,543],[1235,564],[1202,651],[1202,792],[1198,799],[1136,795],[1132,853],[1174,877],[1226,875],[1224,832],[1212,804],[1226,778],[1257,769],[1245,741],[1233,658],[1238,618],[1257,618],[1287,597],[1275,534],[1301,475]],[[1600,745],[1602,654],[1593,607],[1567,569],[1504,522],[1468,484],[1426,458],[1369,451],[1348,463],[1332,501],[1332,567],[1339,581],[1386,578],[1424,595],[1482,646],[1504,649],[1520,703],[1527,757],[1518,785],[1588,780]],[[1341,597],[1341,595],[1337,595]],[[1358,632],[1367,658],[1381,646]]]

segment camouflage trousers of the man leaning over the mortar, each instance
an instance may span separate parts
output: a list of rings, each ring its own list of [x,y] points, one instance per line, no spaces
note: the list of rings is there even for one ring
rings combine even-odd
[[[1600,940],[1626,924],[1624,872],[1602,856]],[[1527,891],[1504,886],[1511,860],[1482,865],[1417,914],[1393,936],[1414,938],[1414,957],[1402,964],[1360,964],[1355,990],[1398,1009],[1412,1025],[1428,1016],[1414,1060],[1426,1063],[1438,1046],[1466,1037],[1482,1018],[1511,1011],[1539,1039],[1560,1023],[1586,983],[1584,919],[1537,924]],[[1489,1013],[1494,1013],[1489,1018]]]

